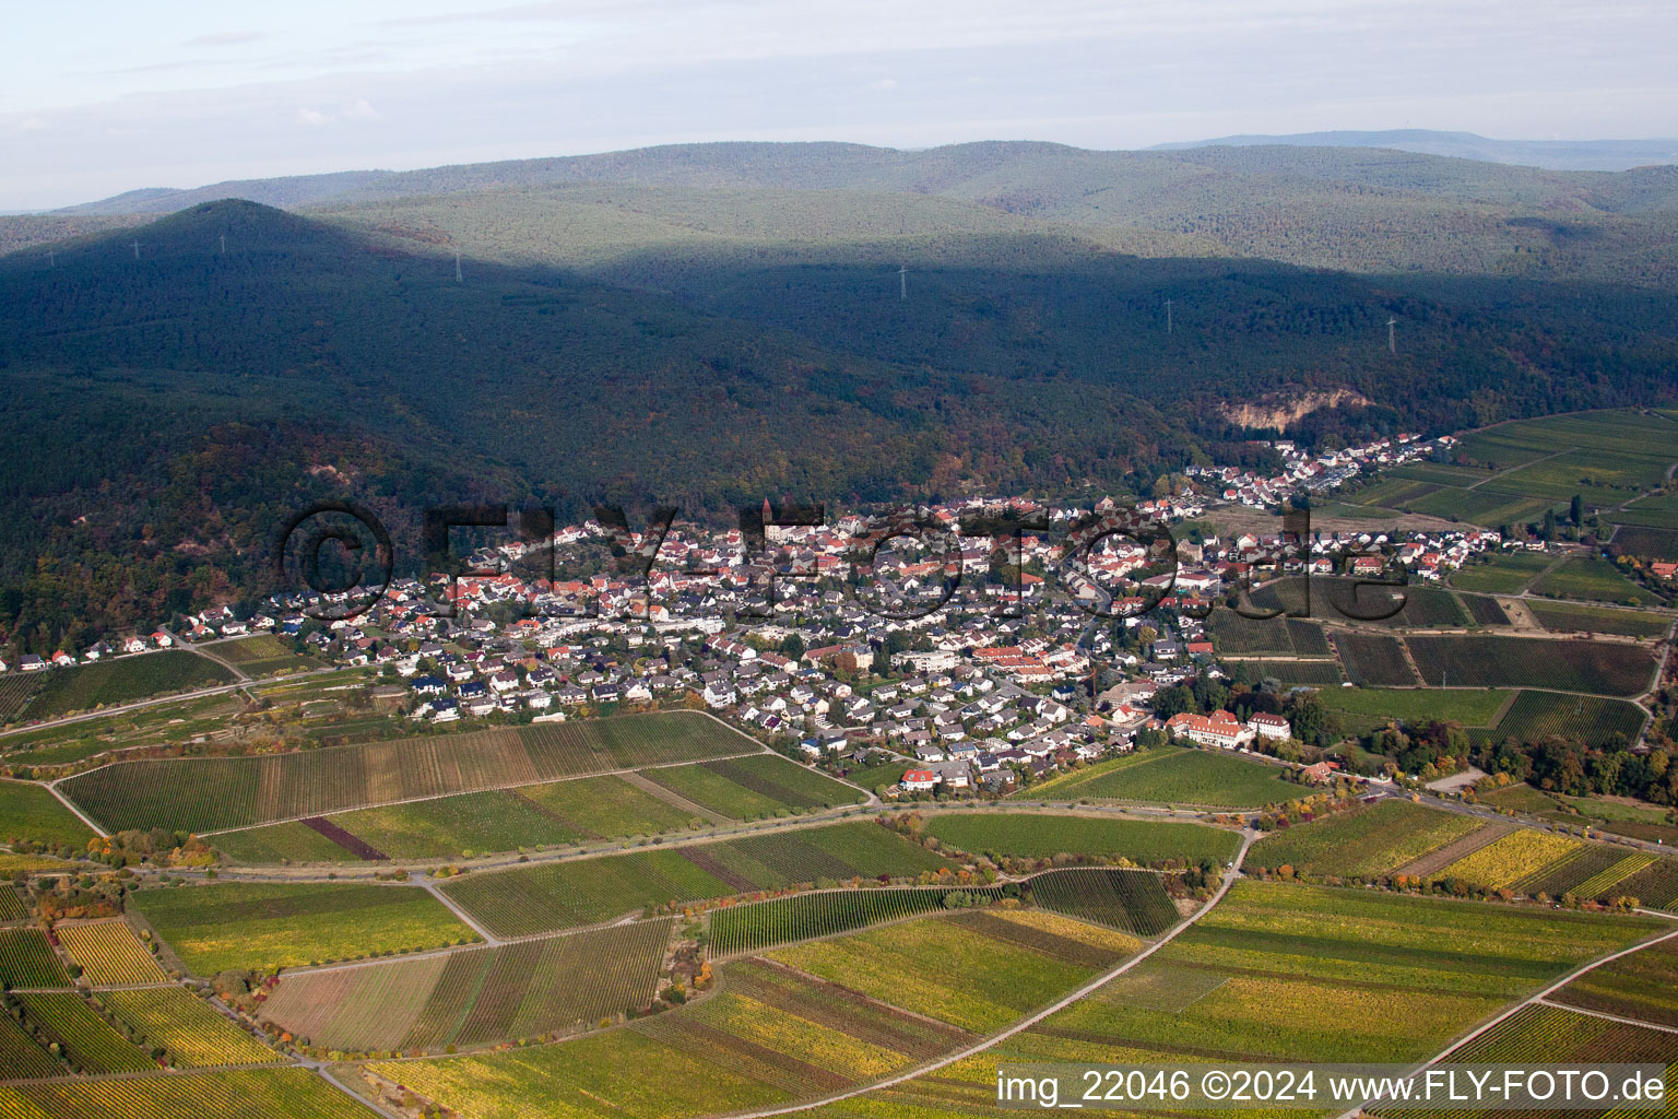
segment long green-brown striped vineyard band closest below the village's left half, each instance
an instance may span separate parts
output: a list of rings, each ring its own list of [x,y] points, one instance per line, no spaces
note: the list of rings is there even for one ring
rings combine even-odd
[[[60,789],[112,830],[218,832],[760,750],[705,715],[676,711],[262,757],[119,762],[79,773]]]

